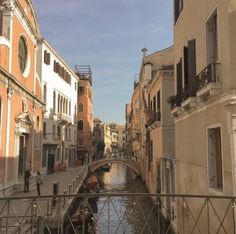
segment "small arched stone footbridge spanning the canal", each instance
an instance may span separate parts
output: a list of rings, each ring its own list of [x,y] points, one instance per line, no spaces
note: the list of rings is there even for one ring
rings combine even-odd
[[[91,162],[89,164],[88,169],[91,173],[93,173],[99,167],[101,167],[107,163],[120,163],[120,164],[130,167],[137,175],[141,174],[140,173],[140,164],[138,162],[133,162],[133,161],[128,160],[126,158],[118,158],[118,157],[110,157],[110,158],[96,160],[96,161]]]

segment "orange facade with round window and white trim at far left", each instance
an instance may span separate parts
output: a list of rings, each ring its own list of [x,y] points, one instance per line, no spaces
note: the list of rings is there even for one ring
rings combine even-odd
[[[41,169],[39,27],[31,0],[0,0],[0,196],[20,189],[26,165]]]

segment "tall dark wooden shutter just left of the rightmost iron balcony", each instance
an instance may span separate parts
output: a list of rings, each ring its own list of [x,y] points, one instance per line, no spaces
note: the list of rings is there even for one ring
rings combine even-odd
[[[193,86],[196,80],[196,46],[195,39],[188,41],[188,80]]]

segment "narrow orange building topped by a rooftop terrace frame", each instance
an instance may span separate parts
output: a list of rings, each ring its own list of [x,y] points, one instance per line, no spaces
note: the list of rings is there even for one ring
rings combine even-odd
[[[78,87],[78,150],[77,157],[83,162],[89,160],[92,152],[93,133],[93,91],[90,66],[76,65],[75,73],[79,77]]]

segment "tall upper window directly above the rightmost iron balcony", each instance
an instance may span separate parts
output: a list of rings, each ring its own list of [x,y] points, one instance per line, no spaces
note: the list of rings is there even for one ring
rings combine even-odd
[[[207,65],[218,60],[217,11],[206,23]]]

